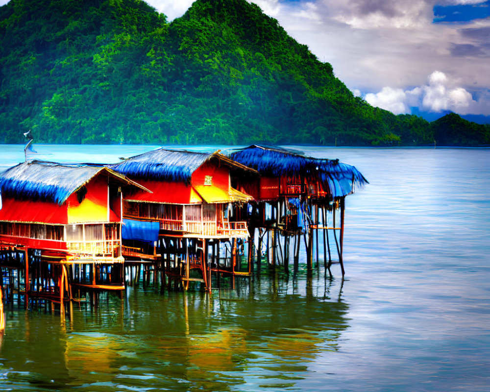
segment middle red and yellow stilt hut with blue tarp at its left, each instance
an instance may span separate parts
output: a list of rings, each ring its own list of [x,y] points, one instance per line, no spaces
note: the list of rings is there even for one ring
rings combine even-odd
[[[236,220],[237,204],[251,196],[231,187],[230,173],[257,173],[219,152],[158,148],[110,168],[151,190],[125,196],[123,244],[126,260],[154,260],[168,276],[203,281],[240,271],[236,252],[248,238],[245,221]],[[199,270],[198,277],[191,270]],[[248,273],[245,271],[245,273]]]

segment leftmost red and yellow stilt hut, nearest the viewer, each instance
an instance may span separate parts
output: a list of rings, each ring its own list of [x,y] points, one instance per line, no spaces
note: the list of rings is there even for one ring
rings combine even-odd
[[[147,192],[91,165],[32,161],[0,173],[0,263],[10,293],[63,301],[73,286],[122,290],[122,195],[135,189]]]

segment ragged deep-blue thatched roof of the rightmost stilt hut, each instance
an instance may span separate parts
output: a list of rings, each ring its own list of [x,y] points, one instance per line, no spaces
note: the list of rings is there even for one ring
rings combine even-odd
[[[352,193],[356,187],[368,184],[366,178],[354,166],[340,163],[338,159],[318,159],[280,147],[252,145],[230,152],[229,157],[267,176],[303,175],[310,180],[318,179],[333,197]]]

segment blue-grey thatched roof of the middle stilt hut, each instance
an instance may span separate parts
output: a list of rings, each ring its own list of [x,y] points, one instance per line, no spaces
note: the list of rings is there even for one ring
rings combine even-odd
[[[199,166],[213,159],[217,159],[220,164],[224,164],[230,169],[254,172],[250,168],[232,161],[219,151],[205,153],[165,148],[157,148],[128,158],[123,162],[108,165],[108,167],[133,178],[179,181],[190,184],[192,173]]]

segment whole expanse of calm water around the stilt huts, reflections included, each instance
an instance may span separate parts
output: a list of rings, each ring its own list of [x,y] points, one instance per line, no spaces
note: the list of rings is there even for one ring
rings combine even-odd
[[[66,320],[9,306],[0,391],[489,391],[490,150],[297,148],[370,181],[346,200],[344,281],[335,265],[333,281],[262,275],[211,297],[129,288]]]

